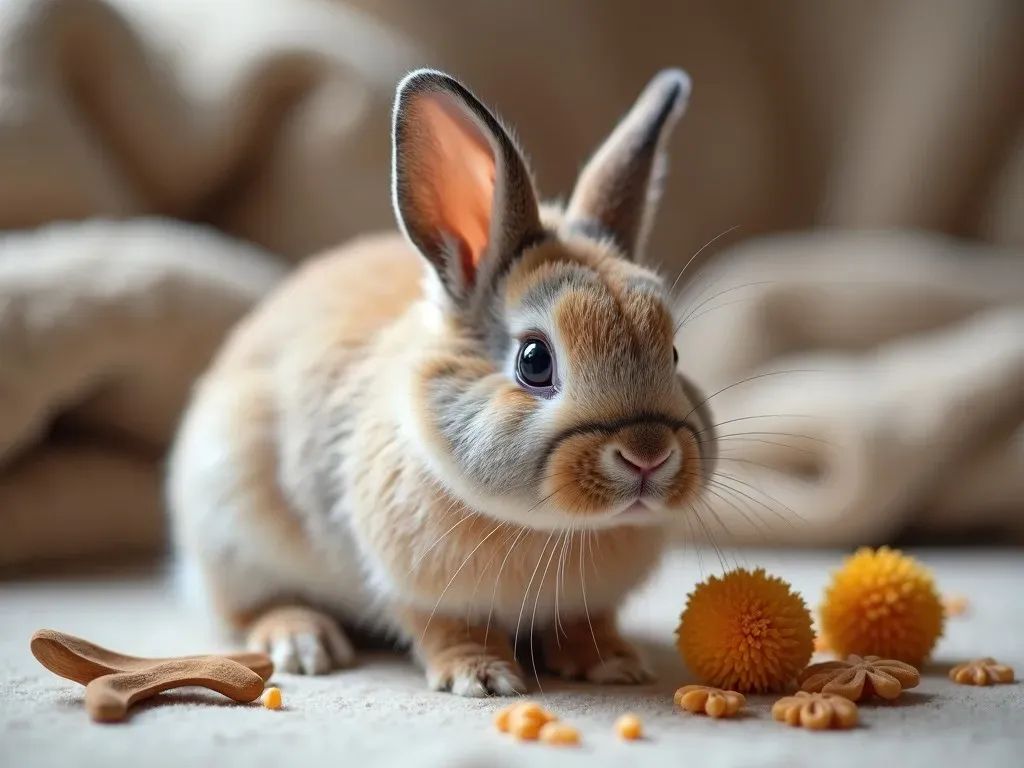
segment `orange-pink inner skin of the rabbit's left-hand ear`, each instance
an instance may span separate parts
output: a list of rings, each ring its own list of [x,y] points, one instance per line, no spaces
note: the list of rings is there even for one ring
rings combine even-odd
[[[420,147],[420,174],[433,200],[431,225],[454,236],[463,273],[472,282],[490,240],[495,197],[495,155],[490,143],[458,105],[443,94],[424,95],[416,123],[424,126],[428,145]],[[426,191],[426,189],[423,189]],[[419,196],[417,196],[419,197]]]

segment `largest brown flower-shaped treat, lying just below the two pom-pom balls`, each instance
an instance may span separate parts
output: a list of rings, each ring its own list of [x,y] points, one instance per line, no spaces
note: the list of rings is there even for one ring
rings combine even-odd
[[[908,664],[852,654],[845,662],[813,664],[800,676],[801,690],[835,693],[851,701],[860,701],[872,694],[893,699],[919,683],[921,673]]]

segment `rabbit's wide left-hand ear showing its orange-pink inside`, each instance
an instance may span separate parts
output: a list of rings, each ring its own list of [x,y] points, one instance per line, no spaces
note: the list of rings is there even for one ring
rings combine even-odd
[[[418,70],[398,84],[392,151],[399,226],[457,303],[541,236],[522,154],[449,75]]]

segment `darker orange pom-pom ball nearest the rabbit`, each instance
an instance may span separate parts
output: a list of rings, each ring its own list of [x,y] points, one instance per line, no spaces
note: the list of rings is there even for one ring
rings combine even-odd
[[[782,690],[814,651],[811,614],[790,585],[764,568],[738,568],[697,585],[676,646],[705,685],[739,693]]]

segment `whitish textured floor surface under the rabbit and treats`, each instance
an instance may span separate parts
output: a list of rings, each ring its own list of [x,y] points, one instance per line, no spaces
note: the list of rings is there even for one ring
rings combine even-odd
[[[544,699],[579,726],[583,744],[556,750],[495,732],[502,699],[432,693],[398,656],[364,659],[319,679],[278,676],[286,708],[240,706],[212,692],[178,691],[138,707],[125,724],[91,723],[82,688],[54,677],[29,652],[40,628],[63,630],[126,653],[221,650],[184,621],[159,575],[54,578],[0,583],[0,766],[1020,766],[1024,684],[974,688],[944,676],[955,660],[992,655],[1024,676],[1024,553],[923,552],[941,589],[967,595],[971,612],[950,620],[936,669],[894,705],[863,707],[861,727],[809,733],[769,717],[773,697],[749,699],[746,717],[711,721],[674,711],[688,682],[672,631],[693,584],[722,566],[713,554],[680,553],[628,606],[630,634],[659,674],[642,689],[598,689],[542,680]],[[838,553],[730,554],[728,565],[763,565],[813,607]],[[536,683],[535,683],[536,685]],[[648,737],[620,743],[615,717],[633,711]]]

